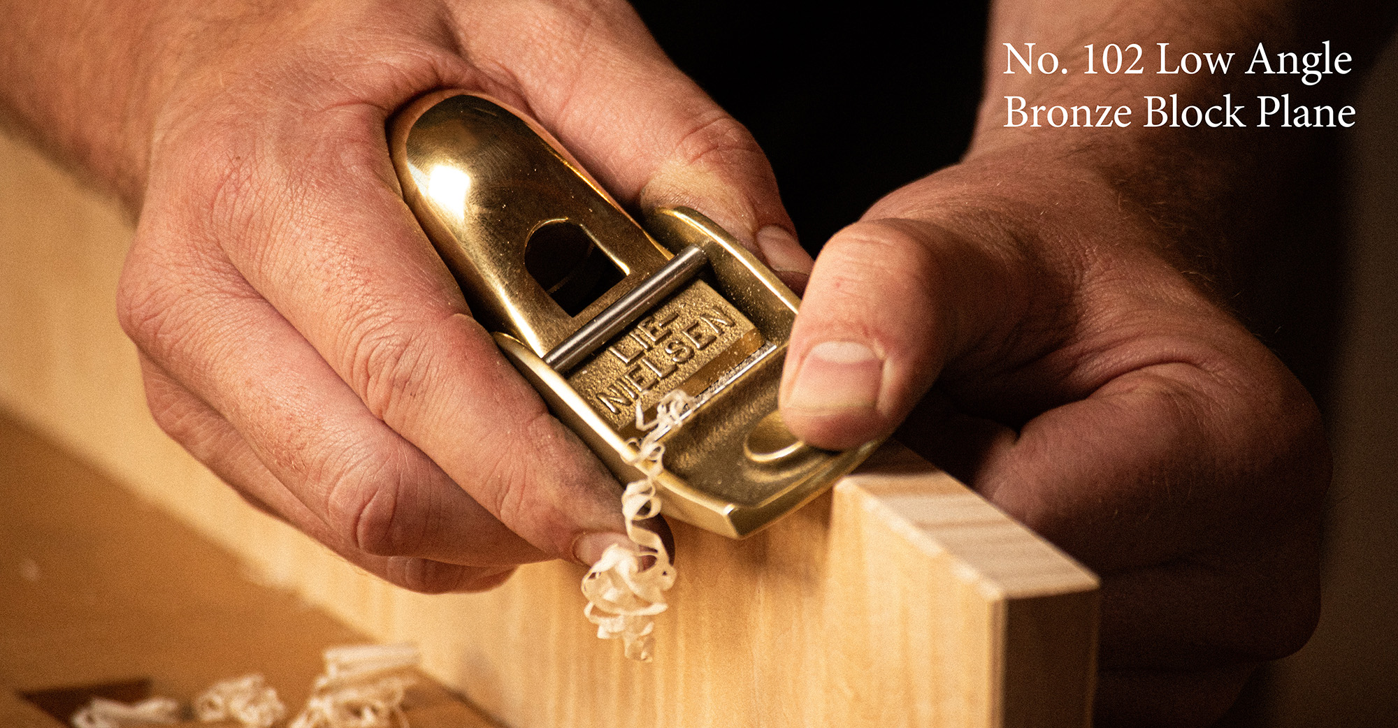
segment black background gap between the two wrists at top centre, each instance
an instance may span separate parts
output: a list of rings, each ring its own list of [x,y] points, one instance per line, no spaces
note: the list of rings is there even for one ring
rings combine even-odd
[[[758,138],[807,249],[960,158],[980,101],[981,3],[754,6],[716,0],[699,13],[643,0],[636,10]]]

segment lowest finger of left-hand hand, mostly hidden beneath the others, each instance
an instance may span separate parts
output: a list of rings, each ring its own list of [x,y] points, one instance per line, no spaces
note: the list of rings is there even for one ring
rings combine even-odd
[[[263,467],[226,419],[148,358],[140,359],[145,397],[155,422],[259,510],[295,525],[359,567],[412,591],[482,591],[499,585],[513,573],[513,567],[461,566],[363,552],[333,531]]]

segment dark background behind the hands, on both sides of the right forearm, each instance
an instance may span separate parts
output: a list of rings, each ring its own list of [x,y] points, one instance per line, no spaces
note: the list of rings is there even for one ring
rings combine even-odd
[[[636,3],[768,152],[812,253],[970,140],[986,8],[893,6]],[[1377,61],[1345,101],[1359,123],[1264,161],[1272,204],[1244,211],[1262,245],[1229,282],[1227,305],[1325,412],[1335,481],[1316,637],[1261,669],[1223,727],[1398,725],[1398,43],[1357,60]]]

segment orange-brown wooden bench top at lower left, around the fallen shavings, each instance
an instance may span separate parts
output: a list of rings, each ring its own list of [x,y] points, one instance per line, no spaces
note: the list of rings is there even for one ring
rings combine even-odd
[[[67,715],[84,686],[144,682],[127,700],[187,703],[249,672],[295,714],[322,651],[366,641],[4,416],[0,502],[0,725],[66,725],[27,693],[73,693]],[[414,728],[492,725],[431,680],[404,710]]]

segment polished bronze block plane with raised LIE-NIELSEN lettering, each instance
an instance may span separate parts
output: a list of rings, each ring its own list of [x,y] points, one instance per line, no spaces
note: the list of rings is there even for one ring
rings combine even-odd
[[[787,432],[777,383],[798,299],[699,212],[656,210],[643,229],[545,130],[461,91],[407,106],[389,141],[473,314],[619,479],[639,476],[637,402],[649,419],[671,390],[699,400],[661,439],[667,516],[741,538],[877,446],[832,453]]]

